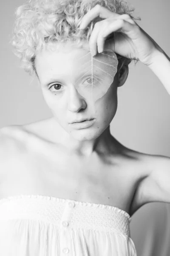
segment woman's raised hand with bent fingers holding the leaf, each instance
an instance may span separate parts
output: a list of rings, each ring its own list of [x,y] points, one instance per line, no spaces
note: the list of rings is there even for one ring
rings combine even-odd
[[[89,47],[94,55],[97,48],[98,52],[109,48],[126,58],[150,65],[154,55],[161,48],[130,15],[119,15],[106,7],[96,5],[82,18],[79,28],[85,29],[98,16],[104,20],[96,22],[89,40]],[[111,33],[114,35],[113,39],[105,41]]]

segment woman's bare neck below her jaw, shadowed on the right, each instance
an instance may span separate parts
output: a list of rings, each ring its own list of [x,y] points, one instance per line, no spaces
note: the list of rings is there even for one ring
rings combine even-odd
[[[58,130],[59,125],[57,121],[52,118],[51,122],[53,122],[54,127],[57,125],[56,130]],[[111,135],[110,125],[99,137],[94,140],[86,141],[76,140],[62,127],[59,129],[63,131],[59,130],[58,134],[60,134],[60,136],[59,140],[57,138],[57,143],[62,143],[66,148],[75,151],[77,154],[82,154],[84,156],[91,156],[94,152],[98,154],[113,154],[116,153],[120,147],[120,143]]]

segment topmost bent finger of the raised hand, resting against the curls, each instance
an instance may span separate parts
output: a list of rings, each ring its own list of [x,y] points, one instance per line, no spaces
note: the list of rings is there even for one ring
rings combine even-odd
[[[111,12],[104,6],[100,6],[99,4],[97,4],[96,6],[94,6],[94,8],[92,8],[88,13],[85,14],[85,16],[82,18],[81,25],[79,26],[79,28],[85,29],[86,26],[88,26],[88,24],[98,16],[103,19],[107,19],[110,17],[116,18],[120,15],[115,12]]]

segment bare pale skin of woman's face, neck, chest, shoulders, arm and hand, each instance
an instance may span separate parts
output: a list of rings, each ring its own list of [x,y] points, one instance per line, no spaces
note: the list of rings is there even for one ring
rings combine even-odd
[[[102,52],[107,35],[117,32],[114,44],[109,41],[107,47],[147,65],[170,93],[170,59],[156,42],[129,16],[114,14],[98,5],[82,18],[80,29],[99,15],[105,20],[94,27],[91,49],[96,53],[101,48]],[[122,45],[119,32],[126,36]],[[97,102],[94,125],[75,130],[68,124],[74,118],[91,116],[88,99],[74,88],[78,63],[73,58],[79,51],[82,49],[72,49],[68,55],[57,50],[51,54],[44,49],[37,55],[35,64],[42,93],[54,117],[1,129],[0,198],[49,195],[115,206],[130,216],[149,202],[170,203],[170,158],[130,150],[110,133],[109,125],[117,109],[116,88],[125,83],[127,66],[116,73],[110,90]],[[55,90],[60,90],[60,84],[65,94],[48,90],[54,84]]]

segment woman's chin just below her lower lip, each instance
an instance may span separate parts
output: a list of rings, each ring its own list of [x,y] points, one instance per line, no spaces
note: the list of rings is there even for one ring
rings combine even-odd
[[[69,134],[74,137],[75,140],[87,141],[95,140],[102,134],[102,131],[96,128],[84,128],[79,130],[71,130]]]

